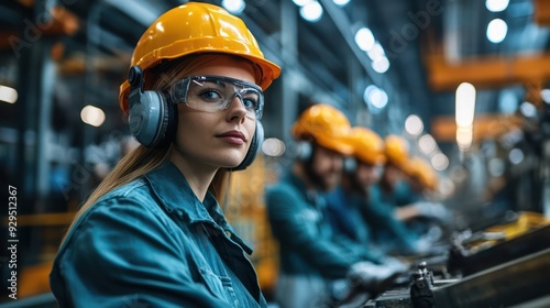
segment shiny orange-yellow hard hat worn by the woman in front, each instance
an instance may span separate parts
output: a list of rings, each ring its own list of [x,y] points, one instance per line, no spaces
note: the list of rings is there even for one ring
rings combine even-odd
[[[265,59],[244,22],[223,8],[188,2],[174,8],[143,33],[135,45],[130,65],[139,65],[146,75],[148,68],[163,59],[174,59],[198,53],[223,53],[244,57],[261,70],[262,89],[280,74],[280,68]],[[120,86],[120,108],[128,112],[129,81]]]

